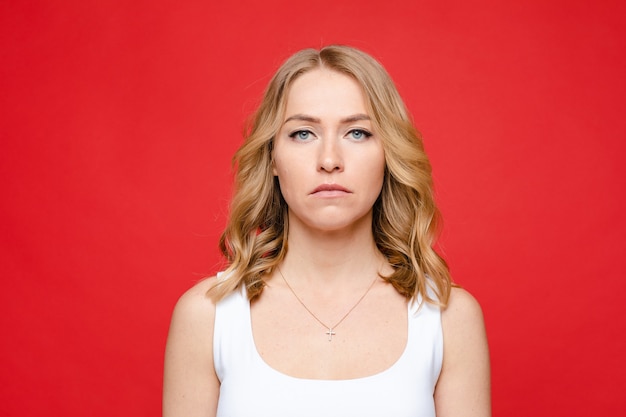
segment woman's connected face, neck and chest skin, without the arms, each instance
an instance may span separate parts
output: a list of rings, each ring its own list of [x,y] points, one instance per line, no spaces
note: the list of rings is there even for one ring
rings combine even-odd
[[[268,277],[252,305],[259,353],[300,378],[358,378],[388,368],[406,345],[406,304],[377,276],[390,272],[371,232],[385,153],[359,84],[329,70],[298,78],[273,158],[289,206],[289,252],[280,268],[307,307],[333,326],[376,282],[328,343],[327,329],[282,277]]]

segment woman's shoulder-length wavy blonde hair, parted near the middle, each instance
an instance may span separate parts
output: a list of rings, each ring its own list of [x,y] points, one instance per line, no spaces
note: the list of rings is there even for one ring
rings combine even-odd
[[[272,173],[272,146],[282,125],[289,87],[317,68],[346,74],[361,85],[374,131],[382,138],[385,177],[373,208],[372,232],[378,249],[394,268],[383,278],[408,299],[419,296],[445,306],[450,274],[433,249],[440,215],[420,135],[385,69],[368,54],[337,45],[297,52],[270,81],[233,158],[234,196],[220,238],[229,266],[222,275],[226,278],[217,281],[210,295],[217,301],[245,285],[248,297],[254,299],[263,291],[264,277],[287,252],[287,204]]]

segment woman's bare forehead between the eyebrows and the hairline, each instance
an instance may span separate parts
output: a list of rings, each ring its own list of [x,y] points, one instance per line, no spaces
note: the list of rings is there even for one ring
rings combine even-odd
[[[367,107],[365,92],[354,78],[338,71],[318,68],[302,74],[291,84],[285,115],[368,114]]]

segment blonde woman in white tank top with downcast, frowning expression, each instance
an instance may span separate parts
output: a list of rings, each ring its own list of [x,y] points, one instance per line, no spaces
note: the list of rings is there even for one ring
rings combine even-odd
[[[382,66],[296,53],[235,161],[229,267],[175,308],[163,415],[489,416],[482,313],[432,249],[430,164]]]

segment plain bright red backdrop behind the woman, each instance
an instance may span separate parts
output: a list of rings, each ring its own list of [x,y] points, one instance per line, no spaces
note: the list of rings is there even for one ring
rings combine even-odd
[[[620,1],[3,1],[0,415],[154,416],[277,66],[347,43],[423,132],[496,416],[626,410]]]

